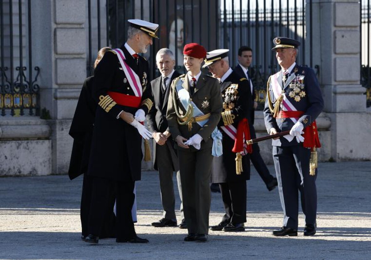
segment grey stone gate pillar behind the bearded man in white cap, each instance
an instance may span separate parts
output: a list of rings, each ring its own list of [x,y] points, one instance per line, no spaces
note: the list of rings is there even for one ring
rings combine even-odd
[[[85,0],[33,0],[33,64],[40,64],[40,106],[49,110],[52,173],[68,171],[68,136],[86,78]]]

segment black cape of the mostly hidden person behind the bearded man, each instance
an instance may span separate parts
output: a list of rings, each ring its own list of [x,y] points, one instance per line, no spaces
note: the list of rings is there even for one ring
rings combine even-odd
[[[68,176],[72,180],[86,173],[97,104],[91,97],[94,76],[86,78],[80,92],[69,135],[73,138]]]

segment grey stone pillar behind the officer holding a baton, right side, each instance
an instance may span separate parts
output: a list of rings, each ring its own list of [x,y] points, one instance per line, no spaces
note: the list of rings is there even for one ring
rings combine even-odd
[[[313,66],[319,65],[324,112],[331,118],[331,158],[369,160],[371,113],[366,110],[365,89],[359,84],[359,2],[315,0],[312,3]],[[306,7],[309,8],[309,1]],[[309,25],[309,17],[306,19]],[[307,35],[308,32],[309,26]]]

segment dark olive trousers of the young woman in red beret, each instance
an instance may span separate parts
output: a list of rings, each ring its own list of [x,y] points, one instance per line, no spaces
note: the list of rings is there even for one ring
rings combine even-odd
[[[178,150],[178,158],[188,234],[209,234],[211,148]]]

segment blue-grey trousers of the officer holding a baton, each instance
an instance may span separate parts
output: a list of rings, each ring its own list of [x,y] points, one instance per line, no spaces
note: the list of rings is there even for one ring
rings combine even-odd
[[[305,214],[305,224],[316,223],[317,216],[317,170],[314,176],[309,175],[311,150],[297,146],[273,146],[278,191],[285,214],[283,226],[298,229],[298,195]]]

